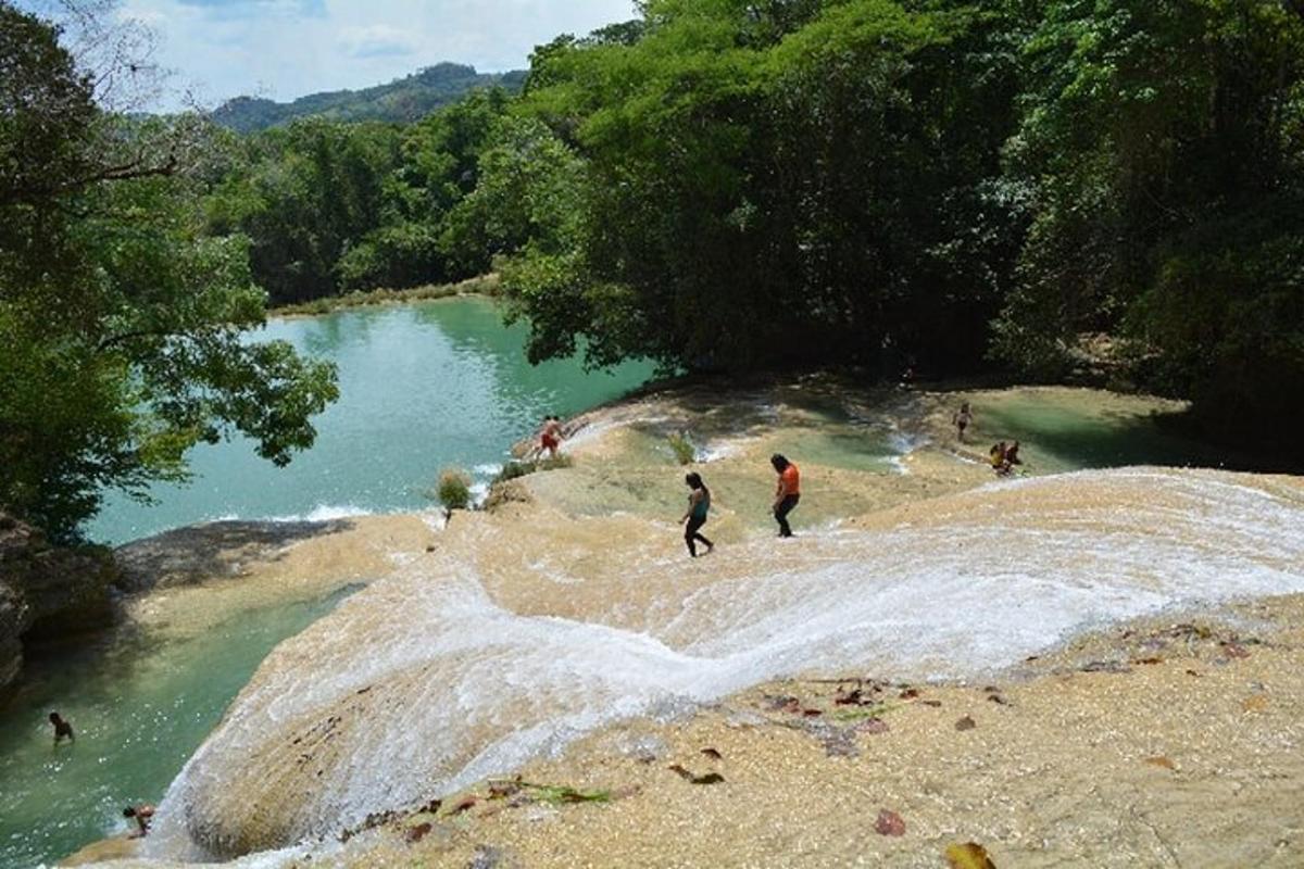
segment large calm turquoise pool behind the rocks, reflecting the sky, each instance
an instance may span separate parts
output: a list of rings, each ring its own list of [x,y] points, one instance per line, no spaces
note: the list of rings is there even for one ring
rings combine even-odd
[[[274,321],[258,337],[339,365],[340,399],[317,418],[313,448],[278,469],[240,438],[196,447],[189,486],[155,486],[151,506],[112,495],[87,525],[93,539],[123,543],[215,519],[426,507],[441,468],[459,465],[486,482],[544,414],[579,413],[652,374],[645,363],[599,373],[578,360],[532,366],[526,327],[505,328],[482,298]]]

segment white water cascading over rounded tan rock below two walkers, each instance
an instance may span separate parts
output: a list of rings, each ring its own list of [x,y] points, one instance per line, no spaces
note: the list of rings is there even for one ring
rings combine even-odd
[[[1304,591],[1304,491],[1270,478],[1067,474],[866,525],[754,538],[689,569],[673,532],[626,524],[609,542],[619,569],[565,582],[507,556],[514,526],[475,526],[267,658],[173,783],[150,852],[333,834],[604,723],[786,674],[978,675],[1166,606]],[[557,537],[531,539],[583,563]],[[556,610],[505,603],[529,582]]]

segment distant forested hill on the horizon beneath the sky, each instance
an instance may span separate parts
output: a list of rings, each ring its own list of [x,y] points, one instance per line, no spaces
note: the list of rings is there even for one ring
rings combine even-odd
[[[475,66],[436,64],[389,85],[309,94],[292,103],[237,96],[218,107],[213,120],[237,133],[265,130],[308,116],[338,121],[415,121],[476,87],[499,85],[520,90],[524,78],[524,70],[477,73]]]

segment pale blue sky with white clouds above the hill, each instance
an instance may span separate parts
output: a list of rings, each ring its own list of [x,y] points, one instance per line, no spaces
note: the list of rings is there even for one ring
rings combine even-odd
[[[526,66],[561,33],[634,17],[631,0],[120,0],[154,29],[173,90],[202,104],[365,87],[438,61]]]

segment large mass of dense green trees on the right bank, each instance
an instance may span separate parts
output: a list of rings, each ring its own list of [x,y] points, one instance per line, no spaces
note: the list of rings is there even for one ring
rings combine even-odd
[[[1060,378],[1108,347],[1215,425],[1304,422],[1300,4],[643,13],[540,48],[514,108],[550,134],[516,197],[565,212],[503,262],[536,357]]]

